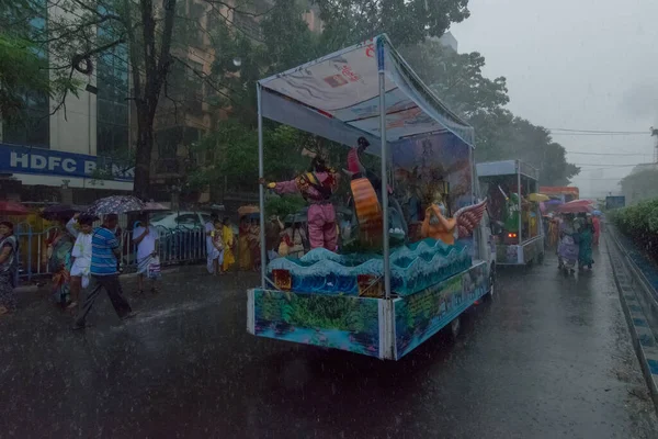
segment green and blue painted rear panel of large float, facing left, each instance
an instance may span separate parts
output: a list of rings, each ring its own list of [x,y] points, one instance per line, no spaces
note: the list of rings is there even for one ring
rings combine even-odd
[[[253,333],[379,357],[378,300],[253,290]]]

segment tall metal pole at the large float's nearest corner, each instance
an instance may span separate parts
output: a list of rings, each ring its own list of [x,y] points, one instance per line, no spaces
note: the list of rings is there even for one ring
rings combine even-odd
[[[382,139],[382,206],[383,210],[383,249],[384,252],[384,291],[390,299],[390,255],[388,243],[388,144],[386,142],[386,74],[384,71],[384,45],[377,41],[377,66],[379,72],[379,130]]]

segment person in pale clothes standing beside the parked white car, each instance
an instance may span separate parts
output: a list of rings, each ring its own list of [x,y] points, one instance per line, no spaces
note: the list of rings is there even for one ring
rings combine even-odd
[[[133,243],[137,246],[137,290],[144,292],[144,275],[151,280],[151,292],[157,293],[156,281],[160,273],[160,260],[158,258],[158,229],[148,222],[145,214],[133,229]]]

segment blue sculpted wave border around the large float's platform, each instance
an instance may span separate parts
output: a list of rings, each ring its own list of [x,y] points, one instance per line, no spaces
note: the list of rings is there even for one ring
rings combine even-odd
[[[392,252],[392,289],[400,295],[413,294],[468,270],[470,266],[467,246],[423,239]],[[338,255],[317,248],[300,259],[275,259],[268,266],[270,274],[273,270],[288,271],[295,292],[358,295],[358,277],[382,277],[384,259],[375,254]]]

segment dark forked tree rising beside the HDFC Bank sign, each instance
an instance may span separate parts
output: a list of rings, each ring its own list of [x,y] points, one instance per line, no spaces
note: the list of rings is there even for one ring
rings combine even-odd
[[[12,3],[13,0],[0,1]],[[12,3],[15,4],[12,10],[21,12],[22,20],[3,22],[11,24],[12,30],[20,30],[31,29],[30,20],[34,16],[47,18],[47,29],[31,32],[25,40],[49,54],[46,60],[49,71],[71,80],[77,75],[93,75],[95,58],[105,54],[129,66],[128,99],[134,103],[137,122],[134,192],[144,199],[149,196],[150,190],[156,112],[163,100],[174,105],[180,103],[168,93],[168,78],[174,65],[182,65],[190,75],[202,80],[207,79],[205,74],[186,63],[188,47],[183,40],[189,31],[209,34],[209,26],[201,29],[198,20],[190,18],[185,11],[186,3],[178,0],[19,0]],[[204,0],[201,12],[212,15],[211,22],[232,23],[235,14],[254,14],[247,0],[236,3]],[[246,10],[240,9],[242,5]],[[235,23],[231,25],[238,27]],[[126,48],[125,57],[113,53],[116,47]],[[43,88],[41,83],[34,86]],[[55,90],[52,81],[49,86]],[[212,86],[222,93],[220,83]],[[53,111],[66,111],[68,92],[77,90],[76,87],[65,88]]]

